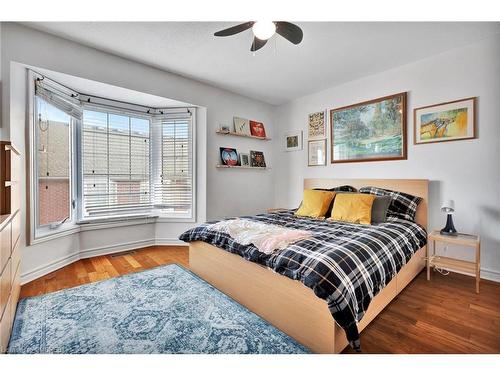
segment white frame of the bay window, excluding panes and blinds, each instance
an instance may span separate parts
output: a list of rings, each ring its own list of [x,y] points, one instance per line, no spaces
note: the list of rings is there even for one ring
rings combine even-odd
[[[150,213],[146,214],[128,214],[128,215],[113,215],[109,217],[99,217],[99,218],[82,218],[82,184],[83,184],[83,166],[82,166],[82,121],[72,118],[71,124],[71,143],[70,143],[70,168],[71,168],[71,178],[70,178],[70,219],[58,226],[42,226],[37,227],[37,216],[38,216],[38,178],[37,178],[37,152],[36,152],[36,138],[35,138],[35,126],[37,119],[35,118],[35,81],[37,78],[43,78],[40,74],[28,69],[28,103],[27,103],[27,133],[29,147],[27,150],[27,158],[29,161],[29,188],[28,188],[28,224],[29,224],[29,245],[35,245],[37,243],[42,243],[55,238],[64,237],[71,235],[73,233],[78,233],[80,231],[100,229],[100,228],[112,228],[126,225],[136,225],[139,223],[152,223],[152,222],[175,222],[175,223],[194,223],[197,217],[197,111],[196,107],[181,107],[181,108],[160,108],[152,111],[151,115],[145,115],[144,113],[138,114],[137,105],[127,103],[120,103],[123,106],[123,110],[112,109],[108,106],[109,103],[113,103],[113,100],[103,99],[102,104],[95,104],[93,106],[82,105],[82,110],[85,108],[91,109],[94,107],[96,110],[125,114],[127,116],[137,116],[137,117],[149,117],[150,120],[150,189],[152,192],[154,178],[158,178],[154,175],[155,163],[161,162],[158,158],[161,156],[161,147],[153,147],[153,143],[158,141],[161,144],[161,122],[158,122],[157,116],[165,115],[175,115],[180,114],[185,111],[191,113],[191,160],[192,160],[192,207],[191,214],[186,216],[184,214],[167,214],[161,212],[153,207]],[[69,89],[68,89],[69,90]],[[79,94],[80,98],[87,98],[83,94]],[[130,108],[130,111],[128,110]],[[142,115],[142,116],[141,116]],[[184,115],[185,116],[185,115]],[[159,123],[159,126],[157,124]],[[155,133],[159,131],[160,137],[157,137]],[[151,193],[151,196],[153,194]]]

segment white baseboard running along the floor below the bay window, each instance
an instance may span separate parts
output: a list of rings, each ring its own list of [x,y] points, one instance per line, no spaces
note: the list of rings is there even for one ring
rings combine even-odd
[[[58,269],[67,266],[71,263],[76,262],[80,259],[91,258],[99,255],[107,255],[113,253],[119,253],[122,251],[140,249],[148,246],[188,246],[185,242],[178,240],[177,238],[156,238],[151,240],[140,240],[126,242],[116,245],[96,247],[92,249],[81,250],[73,254],[59,258],[53,262],[44,264],[42,266],[36,267],[33,270],[26,271],[21,274],[21,285],[29,283],[39,277],[45,276],[51,272],[57,271]]]

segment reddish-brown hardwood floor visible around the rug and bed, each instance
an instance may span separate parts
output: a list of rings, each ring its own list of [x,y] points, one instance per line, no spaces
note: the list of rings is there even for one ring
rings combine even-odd
[[[137,272],[162,264],[189,267],[188,248],[154,246],[133,254],[77,261],[34,280],[21,297]],[[361,333],[363,353],[500,353],[500,284],[437,272],[422,272]],[[345,353],[351,353],[346,349]]]

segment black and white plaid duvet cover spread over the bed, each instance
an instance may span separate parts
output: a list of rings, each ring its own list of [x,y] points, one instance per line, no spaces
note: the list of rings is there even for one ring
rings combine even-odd
[[[355,349],[360,348],[356,323],[373,297],[427,242],[423,227],[402,219],[361,225],[297,217],[293,210],[243,218],[308,230],[313,236],[270,255],[253,245],[238,244],[228,234],[210,230],[211,223],[190,229],[179,238],[207,242],[301,281],[328,303],[333,318],[344,328]]]

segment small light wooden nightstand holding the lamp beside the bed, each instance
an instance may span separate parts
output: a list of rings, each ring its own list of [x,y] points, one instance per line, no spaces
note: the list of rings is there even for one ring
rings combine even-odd
[[[436,255],[436,242],[470,248],[476,253],[475,261]],[[459,233],[456,236],[447,236],[435,230],[429,234],[427,241],[427,280],[431,279],[431,267],[465,273],[476,277],[476,293],[479,293],[479,278],[481,276],[480,259],[481,241],[479,236],[463,233]]]

